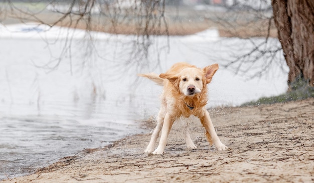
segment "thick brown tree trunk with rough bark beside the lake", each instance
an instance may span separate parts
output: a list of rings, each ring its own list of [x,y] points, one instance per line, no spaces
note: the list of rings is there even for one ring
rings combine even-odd
[[[289,66],[288,85],[297,77],[314,86],[314,0],[272,0],[275,25]]]

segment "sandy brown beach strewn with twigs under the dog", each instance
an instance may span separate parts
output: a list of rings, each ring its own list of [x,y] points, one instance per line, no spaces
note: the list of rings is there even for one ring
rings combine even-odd
[[[133,135],[3,182],[314,181],[314,98],[209,111],[227,151],[209,146],[199,121],[190,125],[198,149],[186,149],[175,123],[164,155],[143,153],[150,134]]]

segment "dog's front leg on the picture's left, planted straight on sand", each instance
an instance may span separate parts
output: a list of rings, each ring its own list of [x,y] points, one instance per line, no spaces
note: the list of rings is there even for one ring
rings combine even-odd
[[[174,123],[174,119],[167,112],[165,119],[164,119],[164,125],[163,125],[163,129],[162,129],[161,139],[159,141],[158,147],[152,152],[153,154],[163,154],[164,153],[165,147],[167,144],[168,134],[170,132],[170,129],[171,129],[173,123]]]

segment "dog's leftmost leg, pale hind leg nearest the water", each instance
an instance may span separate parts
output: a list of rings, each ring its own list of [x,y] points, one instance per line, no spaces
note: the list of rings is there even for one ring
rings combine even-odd
[[[150,141],[146,149],[144,150],[144,152],[150,153],[154,150],[155,143],[157,141],[157,138],[159,137],[160,131],[164,124],[164,119],[165,119],[165,110],[161,108],[157,116],[157,125],[151,134]]]

